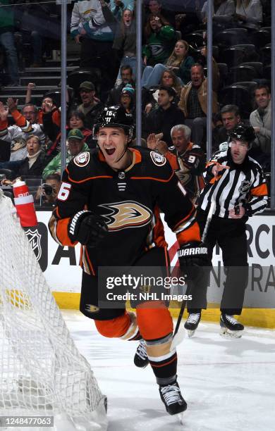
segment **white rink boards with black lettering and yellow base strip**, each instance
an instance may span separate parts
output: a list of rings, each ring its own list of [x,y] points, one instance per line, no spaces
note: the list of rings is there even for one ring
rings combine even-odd
[[[37,211],[38,228],[27,232],[46,280],[61,308],[77,309],[80,299],[81,270],[78,266],[80,247],[62,247],[49,235],[47,223],[51,213]],[[164,223],[166,241],[169,244],[172,265],[176,236]],[[248,262],[250,277],[245,293],[244,311],[241,321],[245,325],[275,328],[275,218],[271,213],[255,215],[247,223]],[[221,251],[214,249],[214,270],[211,289],[207,291],[208,308],[203,311],[204,320],[219,320],[221,289],[218,287],[224,277]],[[173,302],[171,314],[178,316],[180,303]]]

